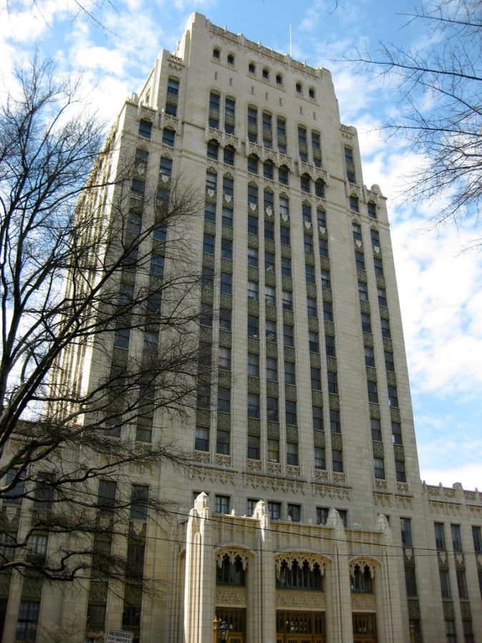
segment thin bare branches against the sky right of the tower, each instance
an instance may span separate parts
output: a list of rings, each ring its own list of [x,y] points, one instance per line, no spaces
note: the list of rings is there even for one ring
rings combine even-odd
[[[438,0],[404,15],[423,25],[418,48],[381,43],[376,54],[349,60],[398,82],[402,114],[384,129],[403,136],[424,162],[407,196],[431,199],[437,223],[478,216],[482,204],[482,7],[476,0]],[[441,205],[442,204],[442,205]]]

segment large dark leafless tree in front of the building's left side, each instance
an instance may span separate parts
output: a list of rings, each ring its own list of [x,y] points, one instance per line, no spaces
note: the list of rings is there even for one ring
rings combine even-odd
[[[16,81],[0,111],[0,573],[135,593],[131,521],[168,506],[141,472],[183,464],[162,423],[209,376],[186,267],[198,204],[169,176],[152,184],[121,130],[101,146],[79,87],[50,63]]]

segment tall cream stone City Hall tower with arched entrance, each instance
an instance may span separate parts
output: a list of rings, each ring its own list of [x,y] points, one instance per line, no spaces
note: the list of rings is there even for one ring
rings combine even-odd
[[[144,474],[168,524],[133,519],[161,597],[44,589],[37,640],[56,614],[86,640],[211,643],[218,619],[231,643],[481,642],[481,497],[421,483],[386,198],[329,71],[193,14],[116,140],[204,195],[189,260],[216,377],[188,422],[136,429],[194,453]]]

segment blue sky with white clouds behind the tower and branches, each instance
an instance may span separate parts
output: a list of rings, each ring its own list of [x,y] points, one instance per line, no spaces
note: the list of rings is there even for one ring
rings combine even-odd
[[[433,36],[407,0],[74,0],[0,2],[0,99],[34,49],[82,74],[91,107],[110,121],[160,49],[174,51],[192,11],[311,66],[331,70],[341,121],[356,126],[363,181],[388,196],[421,479],[482,490],[482,253],[469,220],[433,229],[437,204],[406,203],[404,176],[423,158],[378,126],[403,113],[396,84],[343,62],[380,41],[419,48]],[[99,26],[99,23],[101,26]],[[405,25],[405,26],[404,26]]]

